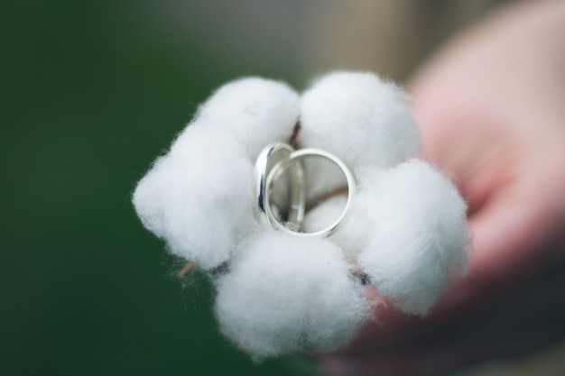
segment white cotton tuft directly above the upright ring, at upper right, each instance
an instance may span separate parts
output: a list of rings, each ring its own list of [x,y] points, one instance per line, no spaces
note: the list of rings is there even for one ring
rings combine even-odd
[[[394,166],[420,150],[406,99],[372,73],[330,73],[302,95],[301,145],[335,153],[351,168]]]

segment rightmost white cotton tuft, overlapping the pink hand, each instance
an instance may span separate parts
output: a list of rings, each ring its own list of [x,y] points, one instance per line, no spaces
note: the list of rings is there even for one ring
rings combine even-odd
[[[426,314],[466,271],[466,205],[449,179],[421,160],[364,178],[374,187],[361,197],[372,229],[359,266],[379,295],[404,312]]]

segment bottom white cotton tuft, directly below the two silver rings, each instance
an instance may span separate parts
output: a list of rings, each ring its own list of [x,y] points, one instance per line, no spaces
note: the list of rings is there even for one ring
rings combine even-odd
[[[218,280],[221,331],[255,359],[347,344],[370,315],[336,244],[270,231]]]

